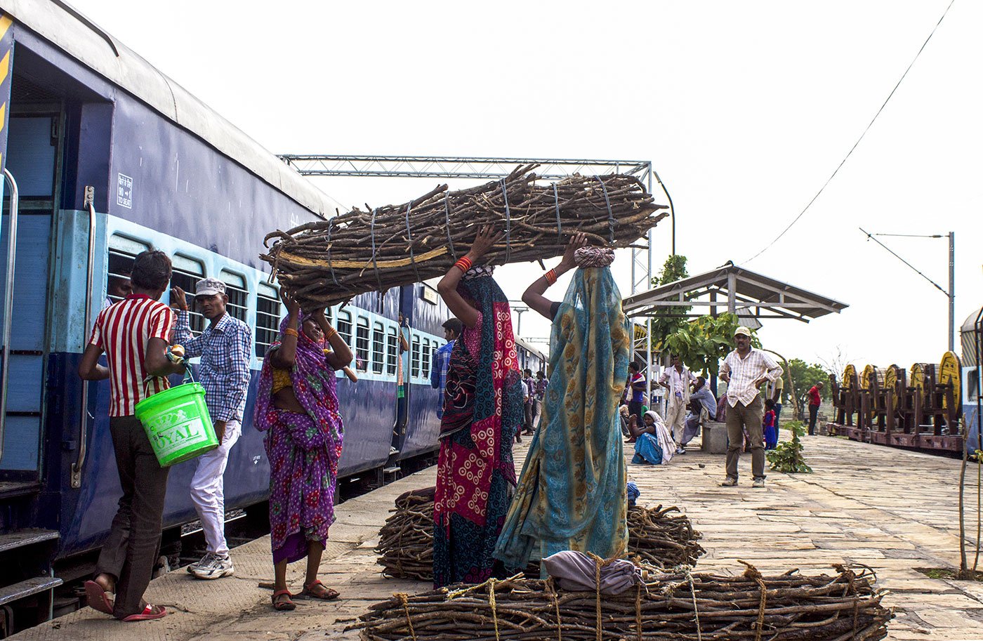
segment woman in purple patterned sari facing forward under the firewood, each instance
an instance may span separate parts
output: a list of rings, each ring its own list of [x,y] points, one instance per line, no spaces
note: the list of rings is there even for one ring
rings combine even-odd
[[[338,596],[318,580],[318,565],[327,529],[334,522],[344,434],[334,373],[351,363],[352,351],[323,310],[305,315],[290,297],[284,296],[283,302],[288,316],[263,360],[255,425],[266,433],[269,460],[273,608],[293,610],[287,563],[304,556],[307,577],[301,594],[323,600]]]

